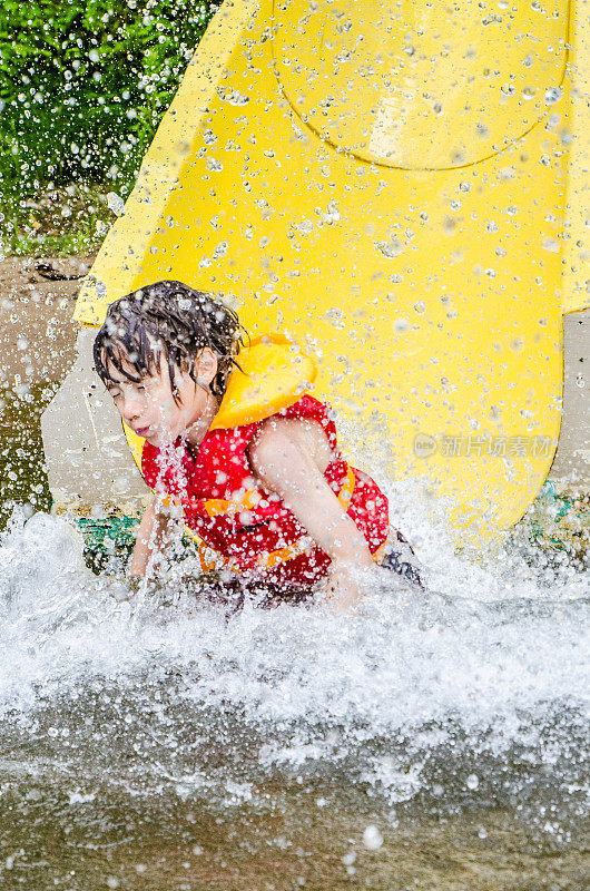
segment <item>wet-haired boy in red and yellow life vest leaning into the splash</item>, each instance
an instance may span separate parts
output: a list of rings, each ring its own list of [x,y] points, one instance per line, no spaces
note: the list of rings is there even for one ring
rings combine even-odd
[[[393,532],[389,544],[386,497],[341,456],[328,408],[302,393],[305,379],[293,381],[289,346],[262,339],[238,360],[243,333],[233,311],[180,282],[157,282],[110,305],[95,365],[145,440],[147,483],[181,505],[184,522],[226,566],[286,595],[323,581],[345,608],[360,599],[357,571],[375,561],[422,587],[412,557],[402,559],[404,545],[413,555],[403,536]],[[252,393],[266,390],[239,420],[245,380]],[[222,423],[227,407],[237,423]],[[139,526],[132,576],[146,574],[169,525],[155,499]]]

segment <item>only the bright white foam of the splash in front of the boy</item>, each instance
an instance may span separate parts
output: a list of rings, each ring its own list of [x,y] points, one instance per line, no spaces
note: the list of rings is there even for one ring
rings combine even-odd
[[[573,575],[548,590],[525,565],[507,579],[441,547],[439,530],[423,525],[421,535],[419,557],[437,593],[376,572],[357,615],[247,601],[226,621],[210,607],[190,611],[183,591],[174,608],[148,603],[134,614],[120,603],[120,579],[85,567],[67,523],[16,520],[0,546],[0,716],[26,717],[68,691],[83,697],[108,678],[149,724],[166,668],[183,679],[169,694],[181,717],[176,724],[173,708],[167,732],[181,735],[189,708],[206,736],[203,714],[229,712],[257,741],[254,773],[352,761],[356,780],[393,804],[434,784],[426,764],[449,746],[465,776],[478,773],[470,746],[502,757],[518,745],[557,763],[568,737],[557,732],[539,755],[542,727],[570,709],[580,733],[590,713],[588,579]],[[180,787],[203,787],[203,757],[187,773],[193,781],[170,768]],[[225,777],[226,797],[250,794],[244,771]]]

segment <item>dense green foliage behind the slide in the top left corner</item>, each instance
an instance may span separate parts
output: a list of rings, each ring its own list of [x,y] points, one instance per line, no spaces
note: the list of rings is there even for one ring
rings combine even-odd
[[[0,193],[126,193],[216,6],[209,0],[3,0]]]

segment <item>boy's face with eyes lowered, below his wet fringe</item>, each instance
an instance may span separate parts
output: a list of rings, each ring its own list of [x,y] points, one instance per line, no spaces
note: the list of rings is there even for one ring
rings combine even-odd
[[[158,373],[138,383],[125,379],[114,369],[110,372],[114,380],[107,384],[107,390],[122,420],[156,448],[173,443],[207,411],[207,393],[197,386],[187,371],[176,369],[178,402],[174,400],[165,362]],[[129,372],[135,374],[130,365]]]

